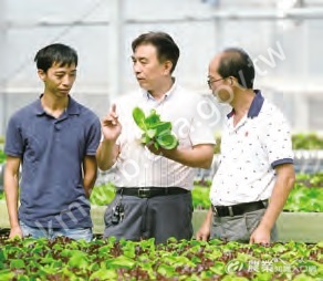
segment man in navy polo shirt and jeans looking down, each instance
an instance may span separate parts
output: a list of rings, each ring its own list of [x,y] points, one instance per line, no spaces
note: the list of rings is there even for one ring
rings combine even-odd
[[[88,197],[96,179],[100,119],[69,94],[76,79],[75,50],[51,44],[34,61],[44,92],[13,114],[6,137],[10,238],[66,236],[90,241]]]

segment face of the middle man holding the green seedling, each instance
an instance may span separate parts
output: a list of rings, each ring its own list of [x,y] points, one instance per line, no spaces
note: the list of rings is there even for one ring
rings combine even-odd
[[[169,75],[166,62],[159,62],[157,50],[152,44],[138,45],[132,56],[133,70],[140,87],[155,91],[160,85],[163,77]]]

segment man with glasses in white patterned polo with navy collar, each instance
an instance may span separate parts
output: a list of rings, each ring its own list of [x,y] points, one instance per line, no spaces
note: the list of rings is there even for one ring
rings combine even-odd
[[[196,238],[268,243],[294,185],[290,128],[283,114],[253,90],[254,66],[241,49],[226,49],[209,65],[208,84],[232,111],[221,136],[221,156],[210,208]]]

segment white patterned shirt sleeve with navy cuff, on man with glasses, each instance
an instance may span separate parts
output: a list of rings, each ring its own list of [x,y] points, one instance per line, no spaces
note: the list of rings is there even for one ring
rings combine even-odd
[[[262,142],[272,168],[294,163],[290,125],[281,112],[271,116],[267,123]]]

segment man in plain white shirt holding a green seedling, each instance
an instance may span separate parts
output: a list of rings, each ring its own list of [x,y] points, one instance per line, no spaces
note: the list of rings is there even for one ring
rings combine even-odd
[[[171,76],[179,49],[164,32],[149,32],[133,41],[133,69],[140,86],[114,103],[102,121],[98,167],[114,168],[116,196],[106,209],[104,237],[140,240],[190,239],[194,168],[209,168],[215,136],[201,114],[206,102],[178,85]],[[138,106],[155,110],[173,124],[179,146],[167,150],[140,144],[142,131],[133,119]]]

